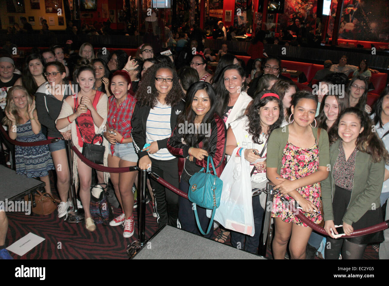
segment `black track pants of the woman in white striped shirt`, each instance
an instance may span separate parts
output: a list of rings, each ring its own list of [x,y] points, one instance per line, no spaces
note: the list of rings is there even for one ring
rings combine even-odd
[[[151,171],[178,188],[178,159],[163,161],[150,158],[150,160],[152,164]],[[155,191],[155,208],[158,214],[157,223],[177,227],[179,196],[152,178],[151,185]]]

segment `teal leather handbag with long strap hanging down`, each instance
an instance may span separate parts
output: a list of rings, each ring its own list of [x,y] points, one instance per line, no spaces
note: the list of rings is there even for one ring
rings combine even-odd
[[[189,179],[188,199],[193,203],[193,210],[195,211],[196,223],[203,235],[207,235],[211,230],[214,222],[215,210],[220,205],[221,191],[223,189],[223,181],[212,175],[209,171],[209,161],[211,161],[214,174],[216,174],[214,161],[211,156],[207,159],[207,172],[203,172],[204,168],[200,172],[194,174]],[[209,222],[207,233],[203,232],[200,221],[198,220],[198,214],[196,205],[203,207],[204,209],[212,209],[212,217]]]

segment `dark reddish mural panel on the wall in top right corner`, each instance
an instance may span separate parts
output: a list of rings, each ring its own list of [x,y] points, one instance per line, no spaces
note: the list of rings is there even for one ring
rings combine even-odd
[[[386,42],[389,24],[387,0],[356,0],[343,5],[338,39]]]

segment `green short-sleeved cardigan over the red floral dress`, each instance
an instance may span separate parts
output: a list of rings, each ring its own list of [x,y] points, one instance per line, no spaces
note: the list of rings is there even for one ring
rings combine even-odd
[[[285,129],[284,129],[285,128]],[[282,132],[284,130],[284,132]],[[317,140],[317,128],[312,128],[312,133]],[[282,153],[284,152],[286,143],[289,138],[289,127],[277,128],[270,134],[267,154],[266,167],[277,168],[277,173],[280,174],[282,167]],[[329,142],[326,130],[322,129],[319,138],[319,166],[327,166],[329,164]]]

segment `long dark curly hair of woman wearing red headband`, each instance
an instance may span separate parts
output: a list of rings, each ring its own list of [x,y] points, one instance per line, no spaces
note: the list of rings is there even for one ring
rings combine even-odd
[[[270,133],[272,133],[273,130],[279,128],[282,123],[283,115],[284,115],[284,108],[282,107],[282,101],[274,96],[268,96],[261,98],[265,93],[276,93],[273,90],[265,90],[261,91],[258,96],[254,99],[254,102],[249,107],[249,111],[247,112],[247,118],[249,119],[249,129],[247,130],[249,134],[252,135],[252,141],[257,144],[262,144],[263,142],[260,139],[260,135],[263,132],[262,126],[260,124],[260,116],[259,116],[259,109],[263,106],[265,106],[270,101],[275,101],[278,104],[279,110],[280,110],[280,116],[278,117],[277,121],[273,123],[273,125],[269,126],[268,133],[266,134],[266,138],[269,138]]]

